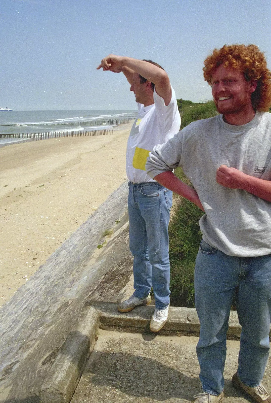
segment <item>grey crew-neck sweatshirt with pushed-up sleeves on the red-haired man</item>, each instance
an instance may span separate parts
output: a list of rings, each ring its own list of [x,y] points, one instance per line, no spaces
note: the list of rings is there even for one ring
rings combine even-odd
[[[257,112],[242,126],[222,115],[197,120],[150,152],[150,177],[181,166],[205,210],[199,221],[203,240],[231,256],[271,253],[271,203],[216,183],[220,165],[271,180],[271,113]]]

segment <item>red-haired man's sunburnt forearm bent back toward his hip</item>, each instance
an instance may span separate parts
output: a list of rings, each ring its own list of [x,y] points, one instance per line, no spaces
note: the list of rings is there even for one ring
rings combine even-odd
[[[202,204],[199,200],[199,196],[197,195],[197,192],[194,189],[192,189],[192,187],[188,186],[186,183],[180,181],[180,179],[177,178],[177,176],[173,172],[171,171],[162,172],[161,174],[156,175],[154,179],[162,186],[167,187],[169,190],[172,190],[178,195],[185,197],[185,199],[194,203],[202,211],[204,211],[204,208],[202,207]]]

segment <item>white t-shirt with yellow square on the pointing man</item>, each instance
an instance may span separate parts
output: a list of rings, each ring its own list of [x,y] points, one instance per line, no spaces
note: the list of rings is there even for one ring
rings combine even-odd
[[[126,150],[126,173],[131,182],[155,182],[145,170],[149,152],[156,144],[165,143],[180,130],[181,116],[172,87],[171,91],[167,106],[155,89],[154,104],[146,107],[138,104],[138,116],[131,128]]]

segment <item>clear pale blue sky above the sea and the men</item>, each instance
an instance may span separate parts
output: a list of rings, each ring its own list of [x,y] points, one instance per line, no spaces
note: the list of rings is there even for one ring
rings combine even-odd
[[[271,69],[269,0],[1,0],[0,106],[135,110],[110,53],[164,67],[177,98],[211,99],[203,60],[224,44],[255,44]]]

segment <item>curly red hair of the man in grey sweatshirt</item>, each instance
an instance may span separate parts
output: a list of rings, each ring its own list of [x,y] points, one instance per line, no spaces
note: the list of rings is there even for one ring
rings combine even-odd
[[[266,112],[271,105],[271,71],[263,52],[256,45],[224,45],[204,60],[203,76],[211,85],[211,78],[216,69],[224,64],[230,69],[238,69],[246,81],[257,80],[257,88],[251,95],[253,108]]]

